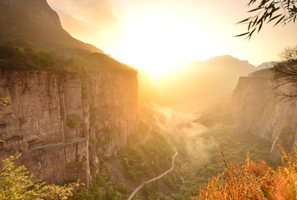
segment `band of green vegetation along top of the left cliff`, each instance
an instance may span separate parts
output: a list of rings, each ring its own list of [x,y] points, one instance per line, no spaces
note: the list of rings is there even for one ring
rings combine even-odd
[[[98,70],[135,71],[102,53],[89,53],[85,57],[78,55],[63,56],[52,50],[43,51],[5,45],[0,45],[0,69],[50,70],[59,73],[83,74]]]

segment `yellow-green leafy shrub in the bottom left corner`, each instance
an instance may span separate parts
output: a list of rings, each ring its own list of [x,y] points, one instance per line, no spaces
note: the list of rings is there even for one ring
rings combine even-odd
[[[0,169],[0,200],[66,200],[72,196],[74,187],[79,183],[68,185],[46,185],[34,179],[24,166],[16,167],[19,157],[10,156],[3,160]]]

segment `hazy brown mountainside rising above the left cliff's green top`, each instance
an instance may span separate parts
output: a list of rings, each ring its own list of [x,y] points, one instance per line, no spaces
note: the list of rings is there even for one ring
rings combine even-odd
[[[46,0],[0,0],[0,30],[0,44],[4,45],[34,46],[67,54],[103,53],[66,32]]]

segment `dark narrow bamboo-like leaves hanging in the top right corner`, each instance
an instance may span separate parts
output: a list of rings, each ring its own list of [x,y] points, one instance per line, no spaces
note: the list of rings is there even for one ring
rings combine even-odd
[[[258,32],[261,30],[263,24],[272,21],[276,22],[274,26],[279,23],[284,26],[292,21],[295,23],[297,18],[296,4],[296,0],[248,0],[247,7],[256,5],[248,13],[258,13],[238,22],[238,24],[247,24],[247,32],[236,36],[247,35],[247,39],[250,39],[256,30]]]

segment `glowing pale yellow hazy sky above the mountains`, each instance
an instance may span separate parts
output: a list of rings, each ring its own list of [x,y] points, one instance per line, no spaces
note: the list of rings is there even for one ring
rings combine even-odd
[[[297,44],[297,24],[265,25],[250,41],[236,22],[248,16],[247,0],[48,0],[72,36],[115,59],[151,73],[174,62],[229,54],[251,64],[276,60]]]

